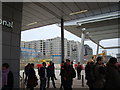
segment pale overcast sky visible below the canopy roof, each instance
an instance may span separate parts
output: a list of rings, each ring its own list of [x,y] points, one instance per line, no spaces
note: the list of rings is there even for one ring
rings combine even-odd
[[[61,37],[61,28],[58,27],[56,24],[21,32],[21,41],[45,40],[54,37]],[[68,40],[81,42],[81,39],[79,37],[66,30],[64,30],[64,37]],[[97,45],[92,41],[85,41],[85,44],[88,44],[93,49],[93,54],[96,55]],[[105,47],[118,46],[118,39],[102,40],[100,44]],[[99,53],[101,53],[102,50],[103,49],[100,48]],[[106,51],[107,55],[112,55],[114,57],[118,53],[118,49],[107,49]]]

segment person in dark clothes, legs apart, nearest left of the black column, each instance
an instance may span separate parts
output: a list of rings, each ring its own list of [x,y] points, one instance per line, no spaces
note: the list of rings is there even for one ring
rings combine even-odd
[[[54,81],[54,76],[55,76],[54,66],[53,66],[52,61],[50,61],[50,65],[47,68],[47,77],[48,77],[47,88],[49,88],[50,78],[52,80],[53,87],[56,88],[55,81]]]

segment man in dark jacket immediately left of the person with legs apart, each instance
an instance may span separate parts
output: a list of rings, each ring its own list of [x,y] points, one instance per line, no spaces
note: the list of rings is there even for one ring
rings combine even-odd
[[[38,74],[40,76],[40,90],[46,90],[46,80],[47,80],[47,68],[46,63],[42,63],[42,67],[38,69]]]

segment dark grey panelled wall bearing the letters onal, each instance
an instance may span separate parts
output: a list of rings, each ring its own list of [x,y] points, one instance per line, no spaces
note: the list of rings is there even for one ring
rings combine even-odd
[[[23,3],[2,3],[2,20],[12,21],[13,28],[2,25],[2,63],[7,62],[14,74],[14,87],[19,87],[20,37]]]

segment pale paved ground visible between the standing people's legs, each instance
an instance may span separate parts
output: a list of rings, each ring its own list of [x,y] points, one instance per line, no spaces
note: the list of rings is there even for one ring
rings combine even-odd
[[[38,75],[37,69],[35,69],[35,71],[36,71],[37,78],[39,79],[39,75]],[[60,70],[55,70],[55,75],[56,75],[56,78],[57,78],[57,80],[55,80],[56,89],[53,88],[52,81],[50,81],[50,87],[47,90],[59,90],[60,89],[60,85],[61,85],[61,79],[60,78],[61,77],[60,77],[59,74],[60,74]],[[82,84],[82,79],[78,80],[77,77],[74,78],[73,79],[73,86],[72,86],[73,90],[79,90],[79,89],[81,89],[81,90],[89,90],[88,86],[86,85],[85,71],[84,70],[81,71],[81,75],[84,76],[83,84]],[[23,77],[23,70],[20,71],[20,76]],[[23,82],[20,83],[20,87],[21,88],[26,88],[26,86],[23,85]],[[38,85],[35,87],[35,89],[39,89],[39,88],[40,88],[40,80],[38,80]]]

